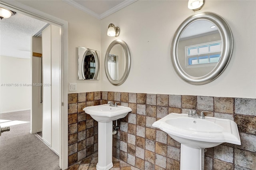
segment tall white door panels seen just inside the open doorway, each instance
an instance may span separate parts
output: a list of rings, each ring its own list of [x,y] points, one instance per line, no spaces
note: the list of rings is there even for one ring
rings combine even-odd
[[[61,34],[50,25],[42,31],[43,122],[42,138],[60,153]]]

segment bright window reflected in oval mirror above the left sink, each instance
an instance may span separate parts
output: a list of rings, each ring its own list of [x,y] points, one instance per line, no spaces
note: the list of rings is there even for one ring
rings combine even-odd
[[[118,55],[108,55],[108,72],[113,80],[118,80]]]

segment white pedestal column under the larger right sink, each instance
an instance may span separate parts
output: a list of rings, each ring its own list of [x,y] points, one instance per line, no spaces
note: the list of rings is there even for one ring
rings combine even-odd
[[[180,170],[204,170],[204,149],[180,144]]]

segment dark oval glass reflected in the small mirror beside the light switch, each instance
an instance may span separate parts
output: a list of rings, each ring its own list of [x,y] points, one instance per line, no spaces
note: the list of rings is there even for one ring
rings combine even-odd
[[[84,77],[85,79],[93,79],[96,69],[95,58],[92,53],[87,53],[84,59]]]

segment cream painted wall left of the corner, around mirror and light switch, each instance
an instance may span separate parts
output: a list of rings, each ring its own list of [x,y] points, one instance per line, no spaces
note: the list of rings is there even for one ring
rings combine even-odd
[[[100,49],[100,20],[61,0],[47,1],[47,3],[44,0],[19,0],[18,2],[68,21],[69,59],[68,68],[65,68],[68,69],[68,75],[64,76],[68,76],[69,83],[77,83],[77,91],[69,91],[68,93],[99,91],[99,80],[78,80],[76,47],[86,47],[102,53]]]

